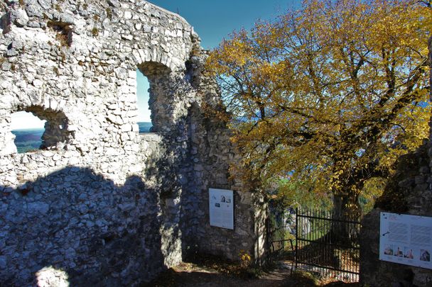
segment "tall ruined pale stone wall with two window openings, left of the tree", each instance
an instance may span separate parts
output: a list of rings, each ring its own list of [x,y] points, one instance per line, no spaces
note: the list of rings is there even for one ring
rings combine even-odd
[[[262,254],[263,205],[229,177],[237,155],[224,123],[204,113],[220,99],[183,18],[146,1],[0,6],[2,283],[134,286],[191,246]],[[150,83],[146,135],[137,69]],[[16,111],[47,120],[42,150],[16,153]],[[210,227],[210,187],[234,189],[234,230]]]

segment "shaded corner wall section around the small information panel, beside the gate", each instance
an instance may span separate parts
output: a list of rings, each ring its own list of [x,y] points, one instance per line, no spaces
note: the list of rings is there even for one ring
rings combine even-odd
[[[220,97],[215,91],[215,81],[205,73],[205,57],[192,57],[191,64],[195,74],[190,79],[202,99],[200,113],[198,106],[190,109],[190,167],[188,187],[190,196],[185,206],[193,213],[186,213],[183,222],[193,223],[193,229],[185,235],[188,240],[186,250],[223,254],[232,260],[239,260],[240,251],[247,252],[254,262],[261,263],[265,257],[265,219],[266,205],[259,193],[227,172],[229,165],[239,162],[236,147],[230,144],[231,133],[218,113],[223,113]],[[232,189],[234,191],[234,230],[209,225],[208,188]]]

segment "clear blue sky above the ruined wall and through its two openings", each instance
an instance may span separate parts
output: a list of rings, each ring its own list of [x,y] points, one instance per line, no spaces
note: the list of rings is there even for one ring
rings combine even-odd
[[[207,50],[217,47],[233,30],[254,26],[257,19],[272,19],[287,9],[298,9],[301,0],[151,0],[157,6],[179,13],[200,35],[201,45]],[[137,72],[138,121],[150,121],[148,111],[148,81]],[[12,129],[43,128],[43,121],[29,113],[12,117]]]

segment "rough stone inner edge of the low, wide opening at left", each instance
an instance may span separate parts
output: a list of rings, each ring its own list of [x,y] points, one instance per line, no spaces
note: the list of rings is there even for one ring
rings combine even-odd
[[[38,105],[18,107],[16,111],[13,112],[18,111],[33,113],[34,116],[41,120],[46,120],[45,131],[41,138],[41,147],[39,147],[40,150],[59,149],[72,138],[72,133],[68,130],[69,120],[63,111],[55,111],[52,108],[45,108]],[[9,138],[13,141],[13,137]]]

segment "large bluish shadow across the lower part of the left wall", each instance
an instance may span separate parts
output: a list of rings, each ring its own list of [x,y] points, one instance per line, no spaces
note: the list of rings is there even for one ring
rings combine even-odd
[[[130,286],[163,269],[158,194],[138,176],[66,167],[0,191],[0,286]]]

